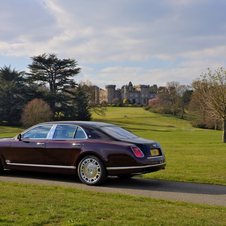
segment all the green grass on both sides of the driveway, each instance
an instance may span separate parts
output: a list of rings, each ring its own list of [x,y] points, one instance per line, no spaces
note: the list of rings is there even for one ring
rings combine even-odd
[[[122,126],[158,141],[165,170],[146,178],[226,185],[226,144],[221,131],[194,129],[185,120],[142,108],[108,108],[93,120]],[[17,127],[0,127],[0,137]],[[199,205],[60,186],[0,181],[0,225],[226,225],[226,207]]]

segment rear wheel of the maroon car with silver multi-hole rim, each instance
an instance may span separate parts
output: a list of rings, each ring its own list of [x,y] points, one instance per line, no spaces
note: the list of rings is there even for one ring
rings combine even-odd
[[[107,171],[98,157],[87,155],[78,164],[78,176],[84,184],[100,185],[107,179]]]

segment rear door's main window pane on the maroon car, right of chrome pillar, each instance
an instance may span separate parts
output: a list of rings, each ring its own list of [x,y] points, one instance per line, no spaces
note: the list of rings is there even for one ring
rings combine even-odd
[[[76,126],[73,125],[58,125],[55,129],[54,139],[73,139]]]

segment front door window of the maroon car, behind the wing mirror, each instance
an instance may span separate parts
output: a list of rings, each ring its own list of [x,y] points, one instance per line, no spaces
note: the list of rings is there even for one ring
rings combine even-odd
[[[43,125],[43,126],[37,126],[26,133],[22,135],[22,138],[46,138],[50,129],[52,128],[52,125]]]

